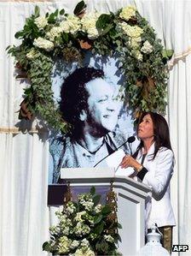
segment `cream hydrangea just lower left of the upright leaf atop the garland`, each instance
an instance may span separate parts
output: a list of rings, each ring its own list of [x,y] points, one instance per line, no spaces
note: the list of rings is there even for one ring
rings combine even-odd
[[[79,18],[75,15],[68,15],[66,20],[61,21],[60,27],[65,33],[77,33],[80,28]]]

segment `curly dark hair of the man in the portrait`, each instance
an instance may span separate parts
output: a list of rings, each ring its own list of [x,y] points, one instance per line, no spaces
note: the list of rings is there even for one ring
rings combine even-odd
[[[96,68],[78,68],[61,86],[60,110],[63,119],[73,125],[80,123],[79,116],[82,110],[88,109],[89,93],[85,84],[96,78],[103,78],[104,73]]]

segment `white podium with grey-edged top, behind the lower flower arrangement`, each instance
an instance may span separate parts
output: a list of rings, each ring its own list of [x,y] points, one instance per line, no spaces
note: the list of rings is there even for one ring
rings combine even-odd
[[[70,182],[71,188],[78,188],[78,193],[84,193],[85,188],[89,191],[92,186],[97,192],[113,183],[118,198],[118,221],[122,225],[119,252],[124,256],[136,255],[145,244],[145,199],[150,188],[129,177],[115,176],[113,168],[65,168],[61,169],[61,179]]]

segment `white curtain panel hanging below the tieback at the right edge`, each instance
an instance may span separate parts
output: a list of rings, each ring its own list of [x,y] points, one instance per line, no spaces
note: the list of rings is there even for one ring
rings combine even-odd
[[[169,121],[171,142],[177,159],[171,182],[171,195],[177,211],[177,241],[191,248],[191,55],[182,58],[171,70]],[[187,254],[188,253],[188,254]],[[191,255],[191,249],[182,255]]]

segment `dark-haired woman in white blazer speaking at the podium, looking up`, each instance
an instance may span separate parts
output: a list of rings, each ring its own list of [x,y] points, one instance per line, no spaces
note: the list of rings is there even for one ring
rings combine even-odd
[[[133,167],[133,177],[152,188],[149,199],[149,212],[146,211],[147,226],[150,229],[157,224],[163,234],[163,246],[171,252],[172,227],[175,217],[171,206],[170,181],[173,174],[174,154],[168,124],[163,116],[145,112],[137,126],[137,137],[140,144],[136,152],[126,155],[121,167]]]

